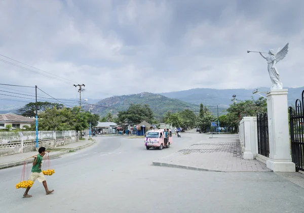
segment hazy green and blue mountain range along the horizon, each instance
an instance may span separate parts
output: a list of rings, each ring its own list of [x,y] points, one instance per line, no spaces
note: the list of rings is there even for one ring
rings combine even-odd
[[[267,92],[269,88],[258,88],[260,92]],[[294,105],[295,100],[301,97],[304,87],[288,88],[288,105]],[[233,95],[236,100],[257,99],[258,94],[252,94],[253,89],[208,89],[195,88],[183,91],[165,92],[165,93],[149,93],[141,92],[138,94],[129,94],[121,96],[112,96],[104,99],[90,99],[83,104],[85,110],[92,110],[92,113],[105,116],[107,113],[117,114],[118,111],[127,110],[131,103],[149,104],[156,117],[161,117],[165,112],[172,113],[189,109],[195,113],[199,112],[199,104],[206,105],[211,112],[217,114],[217,106],[219,115],[225,113],[225,109],[233,103]],[[265,96],[266,94],[261,93]],[[76,105],[76,99],[67,99]],[[83,101],[84,102],[84,101]],[[15,112],[16,109],[25,105],[26,102],[12,102],[1,100],[0,114]]]

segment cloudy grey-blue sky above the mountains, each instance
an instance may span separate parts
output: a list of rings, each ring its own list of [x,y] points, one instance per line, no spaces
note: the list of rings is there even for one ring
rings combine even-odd
[[[284,87],[300,87],[303,8],[302,0],[0,0],[0,83],[58,98],[77,97],[72,84],[86,85],[84,98],[270,87],[267,62],[247,49],[289,42],[277,68]]]

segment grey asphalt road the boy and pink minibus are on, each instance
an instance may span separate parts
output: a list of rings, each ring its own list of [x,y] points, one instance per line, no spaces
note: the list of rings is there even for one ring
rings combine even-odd
[[[22,167],[0,170],[0,212],[304,212],[304,189],[273,172],[199,172],[151,166],[202,140],[183,133],[169,149],[146,150],[143,139],[96,137],[96,145],[51,161],[47,176],[22,198]]]

